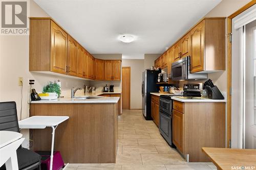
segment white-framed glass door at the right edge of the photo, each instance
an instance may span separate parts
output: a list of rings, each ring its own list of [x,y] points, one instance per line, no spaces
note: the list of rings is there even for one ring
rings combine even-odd
[[[256,149],[256,20],[245,26],[245,149]]]

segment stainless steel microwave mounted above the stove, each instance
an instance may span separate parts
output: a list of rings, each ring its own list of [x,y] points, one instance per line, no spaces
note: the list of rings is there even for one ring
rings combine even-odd
[[[207,79],[207,74],[191,74],[190,56],[187,56],[172,64],[172,71],[168,78],[173,81]]]

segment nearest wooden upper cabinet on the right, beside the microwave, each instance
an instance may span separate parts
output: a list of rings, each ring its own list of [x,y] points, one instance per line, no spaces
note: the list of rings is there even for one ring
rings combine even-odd
[[[225,18],[205,18],[190,35],[190,72],[225,70]]]

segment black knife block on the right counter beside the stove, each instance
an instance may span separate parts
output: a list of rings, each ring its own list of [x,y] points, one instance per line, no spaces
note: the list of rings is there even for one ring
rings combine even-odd
[[[204,88],[208,94],[208,99],[216,99],[216,100],[224,99],[224,96],[220,92],[219,88],[215,86],[210,79],[204,82]]]

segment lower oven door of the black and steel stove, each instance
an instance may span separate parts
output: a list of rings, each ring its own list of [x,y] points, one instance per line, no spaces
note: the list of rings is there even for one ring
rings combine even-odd
[[[159,131],[169,145],[172,145],[172,114],[159,111]]]

